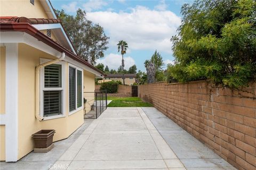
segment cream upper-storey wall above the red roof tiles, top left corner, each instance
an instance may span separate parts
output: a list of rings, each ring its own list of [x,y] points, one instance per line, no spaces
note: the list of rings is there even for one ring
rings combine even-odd
[[[32,5],[29,0],[0,1],[0,16],[48,18],[40,1],[35,1],[35,5]]]

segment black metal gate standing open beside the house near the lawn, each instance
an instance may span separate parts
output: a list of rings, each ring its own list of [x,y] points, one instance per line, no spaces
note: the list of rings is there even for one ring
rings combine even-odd
[[[98,118],[107,109],[107,90],[84,92],[84,118]]]

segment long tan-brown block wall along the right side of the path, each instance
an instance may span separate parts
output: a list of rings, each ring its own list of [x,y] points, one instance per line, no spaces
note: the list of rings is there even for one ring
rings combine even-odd
[[[241,90],[208,81],[139,86],[153,104],[238,169],[256,169],[256,84]]]

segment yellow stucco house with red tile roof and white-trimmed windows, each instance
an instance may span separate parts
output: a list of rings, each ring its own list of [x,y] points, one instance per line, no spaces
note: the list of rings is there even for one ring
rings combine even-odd
[[[84,123],[83,92],[104,73],[77,56],[49,1],[0,6],[0,160],[16,162],[33,133],[54,129],[58,141]]]

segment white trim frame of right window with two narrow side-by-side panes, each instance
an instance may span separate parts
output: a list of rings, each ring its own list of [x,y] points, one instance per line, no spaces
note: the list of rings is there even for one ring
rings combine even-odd
[[[73,67],[74,69],[76,69],[76,80],[75,80],[75,106],[76,109],[74,111],[69,111],[69,67]],[[82,106],[77,108],[77,70],[82,71]],[[83,87],[84,87],[84,71],[83,69],[81,69],[80,67],[74,65],[74,64],[70,64],[68,63],[68,115],[72,115],[78,111],[80,111],[81,109],[84,108],[84,101],[83,101],[83,96],[84,96],[84,92],[83,92]]]

